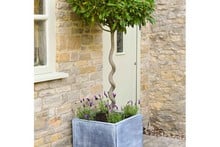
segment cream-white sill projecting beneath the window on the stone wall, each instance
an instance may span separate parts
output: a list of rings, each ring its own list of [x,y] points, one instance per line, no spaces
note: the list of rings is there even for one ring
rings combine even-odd
[[[64,72],[52,72],[47,74],[34,75],[34,83],[67,78],[68,76],[69,74]]]

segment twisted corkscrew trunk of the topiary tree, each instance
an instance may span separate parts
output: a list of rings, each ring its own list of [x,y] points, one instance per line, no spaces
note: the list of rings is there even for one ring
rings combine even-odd
[[[115,70],[116,70],[115,63],[113,62],[113,53],[114,53],[114,50],[115,50],[114,35],[115,35],[115,32],[111,32],[111,49],[110,49],[110,52],[109,52],[109,63],[111,65],[111,72],[108,75],[108,80],[109,80],[109,83],[111,84],[111,87],[109,89],[109,98],[112,102],[112,105],[115,105],[115,103],[116,103],[115,98],[113,96],[113,92],[115,90],[115,82],[113,80],[113,75],[114,75]]]

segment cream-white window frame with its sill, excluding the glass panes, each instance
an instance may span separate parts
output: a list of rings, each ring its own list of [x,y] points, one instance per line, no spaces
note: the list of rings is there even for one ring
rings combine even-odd
[[[56,72],[56,16],[55,0],[44,0],[45,13],[34,14],[34,20],[44,20],[46,30],[46,65],[34,67],[34,82],[68,77],[67,73]]]

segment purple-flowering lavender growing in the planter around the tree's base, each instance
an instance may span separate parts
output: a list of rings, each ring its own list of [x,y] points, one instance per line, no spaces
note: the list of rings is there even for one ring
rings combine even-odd
[[[116,94],[114,93],[114,98]],[[106,92],[104,95],[92,98],[83,98],[79,101],[81,107],[77,109],[77,117],[86,120],[96,120],[116,123],[125,118],[133,116],[138,112],[138,106],[128,101],[127,105],[119,111],[117,105],[112,105]]]

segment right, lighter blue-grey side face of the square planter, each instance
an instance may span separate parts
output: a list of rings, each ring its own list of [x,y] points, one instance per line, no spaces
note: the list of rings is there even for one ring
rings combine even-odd
[[[142,115],[138,114],[117,126],[117,147],[143,147]]]

